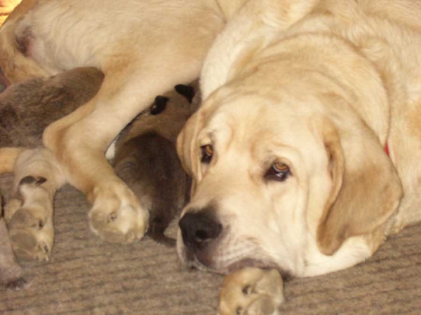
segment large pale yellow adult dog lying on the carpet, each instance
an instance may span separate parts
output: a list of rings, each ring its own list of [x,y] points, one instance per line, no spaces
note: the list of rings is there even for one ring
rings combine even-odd
[[[44,133],[93,202],[98,235],[145,232],[147,213],[102,153],[152,97],[192,80],[206,53],[205,102],[178,145],[194,179],[182,260],[314,276],[421,220],[420,1],[126,1],[113,14],[110,3],[24,0],[0,31],[11,78],[105,72],[98,96]]]

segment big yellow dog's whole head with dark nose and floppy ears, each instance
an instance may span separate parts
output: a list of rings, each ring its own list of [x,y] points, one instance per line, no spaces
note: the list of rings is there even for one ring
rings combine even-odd
[[[311,248],[333,255],[398,207],[396,170],[345,99],[311,82],[271,80],[220,87],[178,138],[194,179],[178,235],[188,265],[300,275]]]

